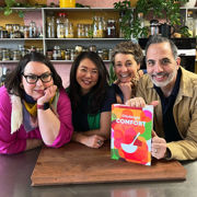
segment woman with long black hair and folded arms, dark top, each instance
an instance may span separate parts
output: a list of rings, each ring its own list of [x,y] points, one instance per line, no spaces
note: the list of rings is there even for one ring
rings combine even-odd
[[[67,89],[72,105],[72,140],[100,148],[111,134],[111,106],[115,93],[108,86],[108,72],[93,51],[81,53],[70,71]]]

